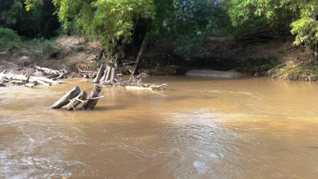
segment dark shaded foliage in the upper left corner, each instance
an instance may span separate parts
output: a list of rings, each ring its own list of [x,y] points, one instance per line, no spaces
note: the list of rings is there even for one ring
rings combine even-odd
[[[51,0],[42,1],[43,6],[25,10],[24,0],[0,0],[0,26],[10,28],[25,38],[35,38],[42,34],[46,38],[56,36],[60,24],[53,15],[56,8]]]

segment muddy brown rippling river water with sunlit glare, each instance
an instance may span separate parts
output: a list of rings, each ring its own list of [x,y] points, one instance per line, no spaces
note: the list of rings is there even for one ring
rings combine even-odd
[[[0,88],[0,178],[318,178],[317,82],[149,76],[171,90],[48,109],[93,86],[66,82]]]

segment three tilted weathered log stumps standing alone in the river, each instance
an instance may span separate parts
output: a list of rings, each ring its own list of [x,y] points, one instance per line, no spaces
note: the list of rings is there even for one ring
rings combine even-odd
[[[74,110],[80,104],[83,103],[80,109],[94,109],[100,98],[104,96],[99,96],[101,91],[101,87],[99,85],[93,87],[92,92],[87,97],[86,90],[80,91],[78,86],[74,87],[71,91],[66,93],[62,98],[60,98],[57,102],[55,102],[50,108],[58,109],[65,106],[64,110]]]

